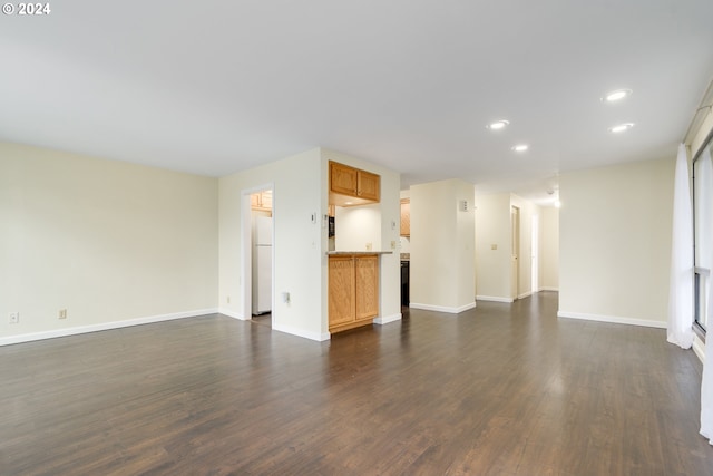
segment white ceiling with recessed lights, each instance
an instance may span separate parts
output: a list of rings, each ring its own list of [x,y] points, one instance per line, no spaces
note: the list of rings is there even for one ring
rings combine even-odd
[[[537,200],[565,171],[674,157],[713,78],[711,0],[50,8],[0,18],[0,140],[211,176],[323,146],[402,188]],[[618,88],[634,93],[599,100]]]

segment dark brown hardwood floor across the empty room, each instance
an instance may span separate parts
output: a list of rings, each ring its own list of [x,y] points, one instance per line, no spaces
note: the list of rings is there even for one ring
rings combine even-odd
[[[329,342],[222,315],[0,348],[2,475],[711,475],[665,331],[479,302]]]

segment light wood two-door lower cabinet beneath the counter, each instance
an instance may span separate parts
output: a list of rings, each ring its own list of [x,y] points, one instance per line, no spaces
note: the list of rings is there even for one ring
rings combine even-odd
[[[370,324],[379,315],[379,256],[329,259],[330,332]]]

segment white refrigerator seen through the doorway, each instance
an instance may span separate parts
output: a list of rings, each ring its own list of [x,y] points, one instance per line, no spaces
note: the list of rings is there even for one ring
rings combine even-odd
[[[272,218],[253,217],[253,315],[272,311]]]

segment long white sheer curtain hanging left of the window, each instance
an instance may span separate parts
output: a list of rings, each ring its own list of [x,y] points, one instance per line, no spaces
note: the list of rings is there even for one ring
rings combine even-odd
[[[674,178],[667,340],[682,349],[693,344],[693,212],[688,177],[686,148],[681,144]]]

